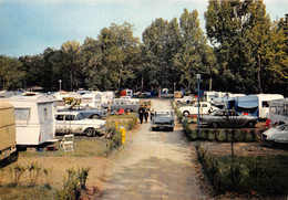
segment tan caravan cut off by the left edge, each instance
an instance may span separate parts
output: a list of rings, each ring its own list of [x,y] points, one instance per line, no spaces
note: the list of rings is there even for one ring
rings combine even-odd
[[[6,101],[0,101],[0,160],[16,152],[14,108]]]

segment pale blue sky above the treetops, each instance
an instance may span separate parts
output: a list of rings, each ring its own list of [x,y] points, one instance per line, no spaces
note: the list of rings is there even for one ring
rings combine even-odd
[[[265,0],[271,20],[288,13],[288,0]],[[205,32],[208,0],[0,0],[0,54],[35,55],[47,48],[86,36],[97,39],[111,23],[134,25],[134,36],[157,18],[181,18],[184,9],[197,9]]]

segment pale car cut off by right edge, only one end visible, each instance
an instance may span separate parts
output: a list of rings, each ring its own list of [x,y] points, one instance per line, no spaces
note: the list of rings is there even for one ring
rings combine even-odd
[[[265,130],[261,139],[267,143],[268,147],[272,147],[275,143],[288,144],[288,125],[279,124]]]

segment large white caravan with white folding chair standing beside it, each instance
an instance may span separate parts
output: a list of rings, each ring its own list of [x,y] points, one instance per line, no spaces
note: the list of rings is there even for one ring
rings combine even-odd
[[[51,95],[12,96],[7,101],[14,106],[17,145],[38,146],[53,140],[55,119]]]

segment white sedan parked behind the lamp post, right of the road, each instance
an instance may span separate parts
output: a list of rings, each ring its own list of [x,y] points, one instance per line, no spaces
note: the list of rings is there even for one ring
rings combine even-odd
[[[219,108],[212,106],[210,103],[208,103],[208,102],[200,102],[200,104],[199,104],[200,115],[207,115],[216,109],[219,109]],[[179,112],[185,117],[187,117],[188,115],[197,115],[198,114],[198,103],[195,103],[192,106],[182,106],[182,107],[179,107]]]

